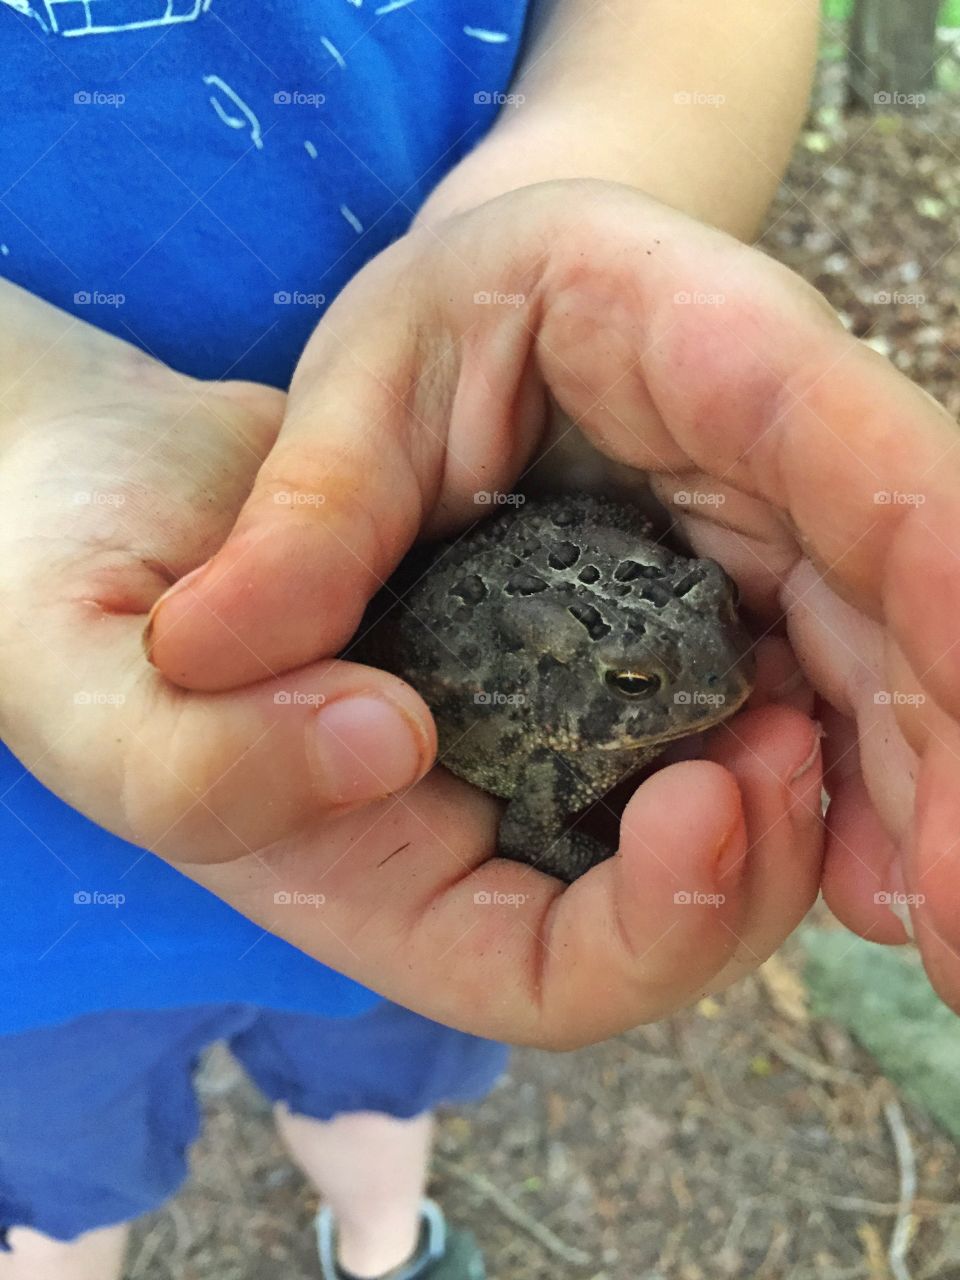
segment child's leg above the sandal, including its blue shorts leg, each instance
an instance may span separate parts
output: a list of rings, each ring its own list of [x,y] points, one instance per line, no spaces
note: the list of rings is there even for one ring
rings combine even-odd
[[[384,1275],[421,1238],[433,1240],[421,1216],[431,1114],[489,1093],[507,1065],[503,1044],[384,1001],[349,1019],[261,1011],[230,1047],[283,1103],[280,1133],[333,1212],[340,1267]],[[447,1240],[451,1257],[470,1252],[466,1233]],[[479,1270],[465,1263],[456,1274]]]

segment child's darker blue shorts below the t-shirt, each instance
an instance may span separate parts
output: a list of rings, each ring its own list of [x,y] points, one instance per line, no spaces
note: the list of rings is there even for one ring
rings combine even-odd
[[[192,1073],[227,1041],[255,1084],[300,1115],[410,1117],[484,1097],[507,1048],[387,1001],[358,1018],[251,1005],[90,1014],[0,1037],[0,1240],[60,1240],[157,1208],[200,1130]]]

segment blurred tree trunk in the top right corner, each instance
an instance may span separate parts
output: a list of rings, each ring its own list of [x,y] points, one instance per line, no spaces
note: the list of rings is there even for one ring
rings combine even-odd
[[[937,83],[941,0],[856,0],[850,24],[850,105],[922,106]]]

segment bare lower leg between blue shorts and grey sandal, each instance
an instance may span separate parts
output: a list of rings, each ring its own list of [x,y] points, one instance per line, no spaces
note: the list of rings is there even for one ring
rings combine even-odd
[[[394,1120],[355,1111],[324,1121],[280,1105],[276,1125],[333,1210],[342,1266],[356,1276],[381,1276],[406,1262],[420,1238],[433,1116]]]

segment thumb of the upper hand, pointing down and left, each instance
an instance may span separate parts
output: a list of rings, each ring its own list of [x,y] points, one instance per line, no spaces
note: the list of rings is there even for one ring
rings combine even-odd
[[[398,257],[394,246],[332,307],[230,536],[154,605],[145,645],[175,684],[236,687],[338,653],[413,541],[443,444],[438,429],[412,445]]]

